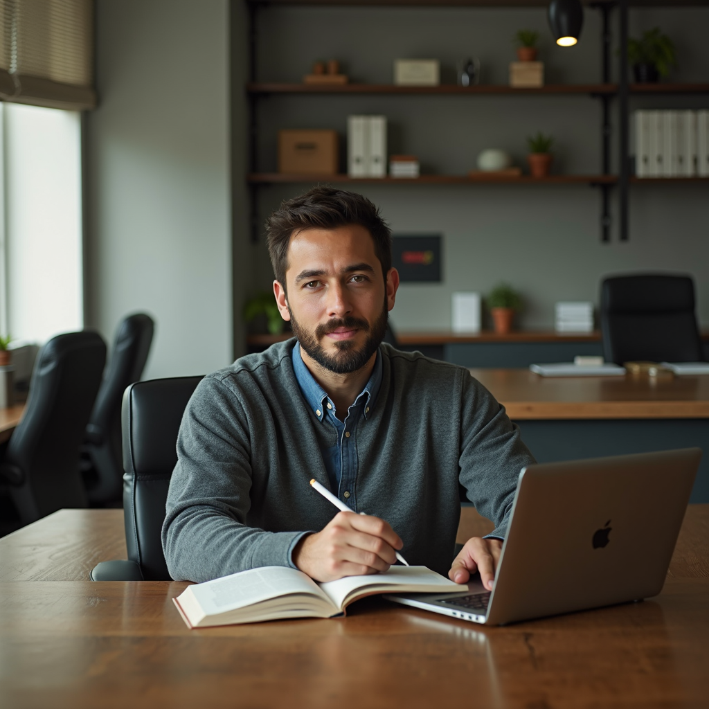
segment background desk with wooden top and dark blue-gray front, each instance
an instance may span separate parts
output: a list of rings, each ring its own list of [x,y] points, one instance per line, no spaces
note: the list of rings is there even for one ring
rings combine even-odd
[[[709,376],[549,378],[471,369],[540,462],[698,446],[691,502],[709,502]]]

